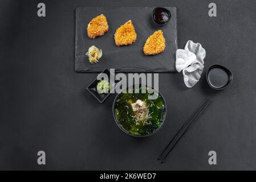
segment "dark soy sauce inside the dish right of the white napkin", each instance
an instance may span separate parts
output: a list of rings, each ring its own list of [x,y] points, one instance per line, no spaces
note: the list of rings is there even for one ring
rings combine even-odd
[[[229,83],[229,74],[222,68],[212,68],[208,73],[209,84],[221,89]]]

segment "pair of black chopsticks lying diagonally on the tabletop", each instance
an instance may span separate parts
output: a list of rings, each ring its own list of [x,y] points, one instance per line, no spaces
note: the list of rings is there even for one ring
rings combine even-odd
[[[198,106],[197,109],[190,115],[190,117],[186,120],[186,122],[178,131],[178,133],[174,136],[174,138],[170,140],[169,144],[165,147],[164,151],[162,151],[162,153],[160,154],[157,160],[161,160],[161,163],[165,162],[165,159],[173,150],[173,148],[176,146],[178,141],[185,135],[185,133],[189,130],[190,126],[192,126],[192,124],[202,114],[202,112],[206,109],[209,103],[210,103],[209,98],[206,98],[204,101],[202,101],[200,106]]]

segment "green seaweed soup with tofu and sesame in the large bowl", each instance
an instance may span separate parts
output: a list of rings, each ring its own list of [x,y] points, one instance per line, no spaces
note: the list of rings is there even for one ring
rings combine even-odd
[[[164,121],[165,117],[165,103],[163,98],[159,95],[155,100],[148,100],[151,95],[148,88],[145,86],[139,87],[139,93],[122,93],[116,100],[114,106],[115,117],[119,125],[131,135],[143,136],[152,134],[156,131]],[[141,93],[145,89],[146,93]],[[132,105],[136,103],[143,104],[143,107],[137,105],[138,109],[135,111]]]

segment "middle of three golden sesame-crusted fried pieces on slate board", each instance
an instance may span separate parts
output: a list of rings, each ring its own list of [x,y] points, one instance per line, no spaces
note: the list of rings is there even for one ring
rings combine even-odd
[[[135,42],[136,39],[137,34],[131,20],[117,28],[115,33],[116,46],[130,45]]]

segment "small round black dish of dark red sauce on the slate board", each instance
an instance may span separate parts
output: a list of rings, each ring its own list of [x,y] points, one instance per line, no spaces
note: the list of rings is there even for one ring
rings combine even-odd
[[[172,15],[168,9],[164,7],[156,7],[152,11],[151,16],[154,23],[156,23],[158,26],[163,26],[169,22]]]

